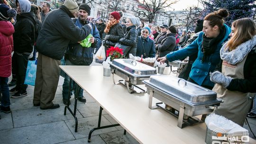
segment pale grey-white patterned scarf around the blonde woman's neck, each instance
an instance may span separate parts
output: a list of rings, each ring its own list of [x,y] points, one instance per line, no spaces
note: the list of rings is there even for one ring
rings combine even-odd
[[[243,61],[247,54],[252,50],[256,52],[256,36],[253,36],[252,39],[238,45],[238,47],[231,52],[229,52],[228,48],[226,49],[226,45],[228,45],[228,42],[220,49],[220,58],[227,61],[229,64],[236,64]]]

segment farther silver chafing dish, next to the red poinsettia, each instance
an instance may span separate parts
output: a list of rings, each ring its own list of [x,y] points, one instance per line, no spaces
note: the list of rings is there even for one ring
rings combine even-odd
[[[151,75],[156,74],[155,68],[130,59],[114,59],[113,62],[110,63],[110,71],[112,73],[114,84],[124,84],[129,93],[137,92],[135,88],[140,90],[140,92],[137,93],[145,93],[146,90],[143,90],[136,85],[144,84],[142,82],[143,80],[148,80]],[[114,74],[124,79],[124,81],[120,80],[116,83]]]

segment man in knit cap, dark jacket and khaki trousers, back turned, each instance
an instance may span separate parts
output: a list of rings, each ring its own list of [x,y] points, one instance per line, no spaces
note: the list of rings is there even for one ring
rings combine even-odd
[[[41,109],[59,108],[52,101],[58,86],[60,60],[70,41],[81,42],[91,32],[91,25],[77,27],[71,18],[78,11],[75,0],[66,0],[59,9],[51,10],[42,23],[37,38],[37,78],[33,104]]]

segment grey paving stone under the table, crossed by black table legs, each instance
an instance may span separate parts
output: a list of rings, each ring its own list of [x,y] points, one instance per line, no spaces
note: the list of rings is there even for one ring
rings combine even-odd
[[[74,137],[78,139],[78,138],[88,137],[91,129],[98,126],[98,118],[99,118],[98,116],[79,118],[77,132],[74,132],[74,128],[75,128],[74,120],[65,120],[65,122],[67,126],[70,128]],[[111,123],[105,117],[101,117],[101,126],[108,126],[108,125],[111,125]],[[92,135],[99,135],[99,134],[104,134],[104,133],[113,132],[117,130],[118,129],[115,127],[104,128],[104,129],[95,130],[92,133]]]

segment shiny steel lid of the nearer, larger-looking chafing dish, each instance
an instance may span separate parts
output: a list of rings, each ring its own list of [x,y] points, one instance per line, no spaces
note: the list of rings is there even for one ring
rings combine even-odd
[[[216,92],[171,75],[151,76],[149,80],[144,82],[191,103],[209,102],[217,99]]]

